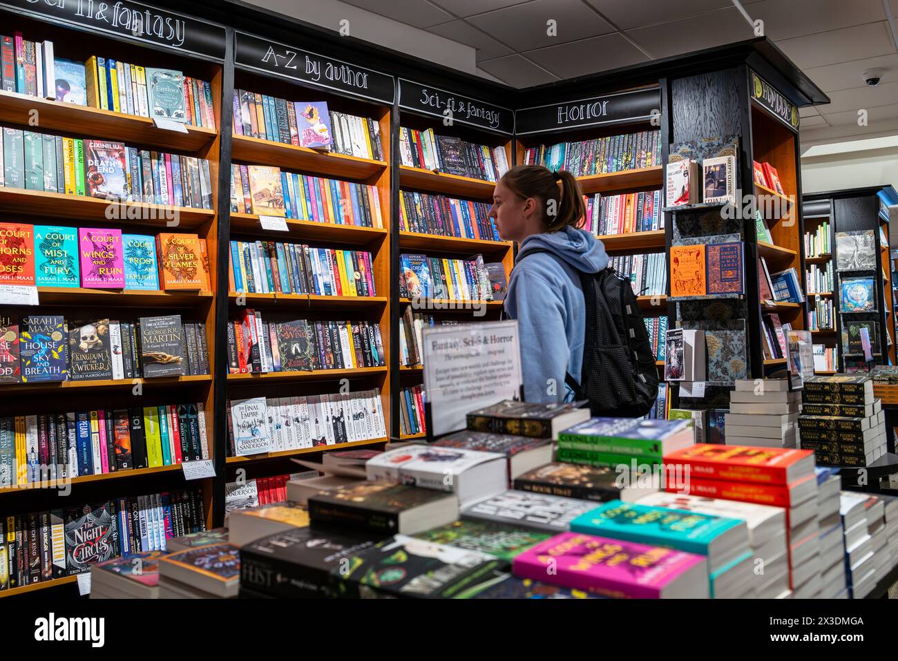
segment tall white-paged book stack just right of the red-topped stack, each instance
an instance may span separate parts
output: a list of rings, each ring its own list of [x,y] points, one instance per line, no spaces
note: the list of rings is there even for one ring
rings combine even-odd
[[[845,577],[844,529],[839,516],[839,472],[817,468],[817,523],[820,531],[821,599],[848,599]]]

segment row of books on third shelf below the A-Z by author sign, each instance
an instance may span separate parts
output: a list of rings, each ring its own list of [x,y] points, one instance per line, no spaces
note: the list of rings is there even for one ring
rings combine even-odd
[[[232,241],[232,292],[376,296],[371,253],[299,243]]]

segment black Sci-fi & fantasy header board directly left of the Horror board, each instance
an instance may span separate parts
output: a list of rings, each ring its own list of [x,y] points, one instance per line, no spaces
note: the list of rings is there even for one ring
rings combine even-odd
[[[399,79],[399,106],[434,117],[451,117],[453,123],[467,124],[506,136],[515,132],[514,110],[430,85],[414,83],[405,78]]]

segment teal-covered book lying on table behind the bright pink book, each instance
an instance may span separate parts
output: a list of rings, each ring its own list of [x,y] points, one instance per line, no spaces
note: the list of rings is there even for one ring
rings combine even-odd
[[[744,522],[683,509],[611,500],[577,516],[570,522],[570,530],[708,555],[709,544],[737,525]]]

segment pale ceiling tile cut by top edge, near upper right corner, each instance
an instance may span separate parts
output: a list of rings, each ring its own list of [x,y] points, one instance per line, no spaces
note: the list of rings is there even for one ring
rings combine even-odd
[[[885,21],[882,0],[851,0],[850,7],[845,0],[763,0],[747,11],[764,22],[764,33],[772,40]]]

